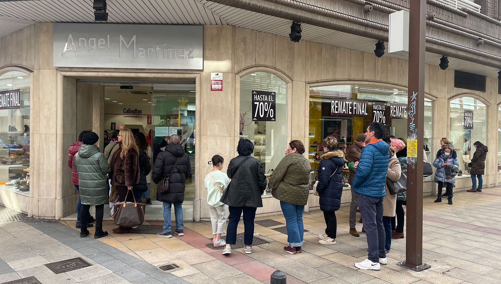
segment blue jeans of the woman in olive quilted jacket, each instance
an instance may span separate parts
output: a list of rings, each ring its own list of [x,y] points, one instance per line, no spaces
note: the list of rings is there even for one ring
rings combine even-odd
[[[289,246],[302,246],[305,229],[303,226],[304,205],[295,205],[280,201],[287,226],[287,242]]]

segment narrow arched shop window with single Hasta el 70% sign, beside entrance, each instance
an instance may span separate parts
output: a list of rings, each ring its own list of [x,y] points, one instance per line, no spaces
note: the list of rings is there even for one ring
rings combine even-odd
[[[254,154],[271,175],[287,149],[287,83],[255,72],[240,79],[239,136],[254,143]],[[270,193],[270,192],[267,192]]]

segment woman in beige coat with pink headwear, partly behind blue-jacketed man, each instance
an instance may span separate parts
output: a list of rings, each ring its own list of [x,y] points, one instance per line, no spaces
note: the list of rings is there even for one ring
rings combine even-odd
[[[386,172],[386,178],[391,181],[397,181],[402,174],[402,168],[400,166],[400,161],[398,161],[395,152],[390,149],[390,161],[388,163],[388,171]],[[397,206],[397,194],[390,194],[388,191],[388,184],[386,187],[386,195],[383,197],[383,224],[384,231],[386,235],[385,250],[388,252],[391,247],[391,217],[395,216],[395,209]]]

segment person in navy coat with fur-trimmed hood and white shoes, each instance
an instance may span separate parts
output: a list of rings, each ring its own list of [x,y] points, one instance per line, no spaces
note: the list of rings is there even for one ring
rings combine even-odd
[[[320,244],[336,244],[337,219],[336,211],[341,205],[341,194],[343,193],[343,165],[344,153],[336,150],[338,141],[333,136],[328,136],[322,141],[324,154],[320,157],[322,161],[318,165],[317,192],[320,197],[320,210],[324,211],[325,234],[321,238]]]

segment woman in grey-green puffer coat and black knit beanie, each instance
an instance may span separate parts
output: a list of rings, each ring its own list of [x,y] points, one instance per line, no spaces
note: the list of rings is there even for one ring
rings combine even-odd
[[[78,172],[78,185],[82,209],[80,218],[87,220],[91,206],[96,206],[96,232],[94,238],[107,236],[103,231],[104,203],[108,202],[108,181],[106,174],[110,166],[104,154],[99,150],[99,136],[95,132],[88,132],[82,138],[84,143],[75,157],[75,169]],[[89,230],[84,223],[80,226],[80,237],[86,237]]]

